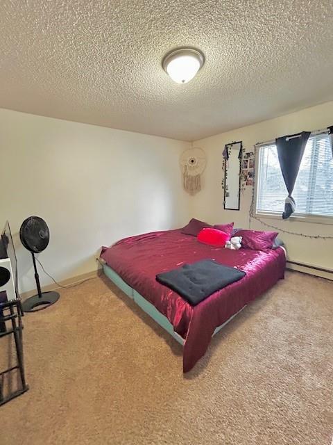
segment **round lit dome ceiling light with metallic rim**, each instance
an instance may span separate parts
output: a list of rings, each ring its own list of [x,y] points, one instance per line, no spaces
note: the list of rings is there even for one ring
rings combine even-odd
[[[205,57],[198,49],[178,48],[164,57],[162,66],[173,81],[187,83],[194,78],[204,62]]]

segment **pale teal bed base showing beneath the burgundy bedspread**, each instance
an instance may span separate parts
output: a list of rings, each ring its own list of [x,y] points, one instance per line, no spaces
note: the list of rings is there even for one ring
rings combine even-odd
[[[157,311],[155,306],[153,306],[150,302],[146,300],[146,298],[144,298],[137,291],[135,291],[133,287],[128,286],[128,284],[126,284],[126,282],[124,282],[121,279],[121,277],[119,277],[119,275],[116,272],[114,272],[114,270],[112,270],[112,268],[110,268],[107,264],[103,264],[103,272],[109,278],[109,280],[111,280],[117,287],[119,287],[119,289],[121,289],[121,291],[123,291],[123,293],[126,293],[128,297],[132,298],[132,300],[134,300],[137,303],[137,305],[141,307],[141,309],[143,309],[144,312],[146,312],[146,314],[151,316],[151,318],[153,318],[153,320],[155,320],[156,323],[158,323],[160,326],[163,327],[163,329],[169,332],[169,334],[171,334],[172,337],[178,341],[178,343],[180,343],[182,346],[184,345],[185,339],[180,337],[180,335],[173,330],[173,325],[171,325],[166,316]],[[241,312],[244,309],[244,307],[242,307],[239,310],[239,312]],[[225,321],[225,323],[223,323],[222,325],[216,327],[212,337],[214,337],[214,335],[217,334],[217,332],[219,332],[223,326],[229,323],[229,321],[231,321],[232,318],[237,316],[239,312],[228,318],[228,320]]]

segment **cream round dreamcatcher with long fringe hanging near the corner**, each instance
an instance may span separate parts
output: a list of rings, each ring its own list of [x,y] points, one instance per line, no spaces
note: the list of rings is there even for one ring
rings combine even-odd
[[[203,149],[194,147],[182,153],[180,156],[180,168],[185,190],[190,195],[195,195],[201,190],[200,175],[205,170],[206,155]]]

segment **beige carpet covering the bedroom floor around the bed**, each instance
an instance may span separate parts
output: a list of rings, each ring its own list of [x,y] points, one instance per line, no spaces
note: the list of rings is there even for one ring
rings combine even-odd
[[[0,408],[1,445],[331,444],[333,282],[287,273],[187,375],[181,346],[106,278],[24,324],[31,389]]]

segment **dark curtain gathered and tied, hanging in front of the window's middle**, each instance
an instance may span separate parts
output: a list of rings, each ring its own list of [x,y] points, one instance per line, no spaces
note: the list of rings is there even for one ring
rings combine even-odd
[[[302,133],[282,136],[282,138],[275,140],[282,176],[288,191],[284,212],[282,213],[284,220],[289,218],[296,209],[296,202],[291,194],[293,193],[298,170],[300,170],[300,162],[302,161],[305,145],[307,145],[310,134],[310,131],[302,131]]]

